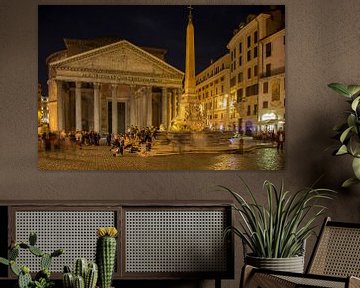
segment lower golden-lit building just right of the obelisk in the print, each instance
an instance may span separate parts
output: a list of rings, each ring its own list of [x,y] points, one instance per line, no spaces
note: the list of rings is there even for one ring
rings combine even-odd
[[[196,76],[196,93],[206,127],[211,130],[235,130],[236,99],[230,94],[230,55],[212,62]]]

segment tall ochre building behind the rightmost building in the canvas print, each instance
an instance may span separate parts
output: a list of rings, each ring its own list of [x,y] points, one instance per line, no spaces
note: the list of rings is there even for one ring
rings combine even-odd
[[[230,51],[230,97],[236,98],[237,126],[247,134],[261,129],[258,123],[260,74],[269,67],[265,63],[263,47],[267,43],[262,39],[283,27],[281,11],[249,15],[227,45]]]

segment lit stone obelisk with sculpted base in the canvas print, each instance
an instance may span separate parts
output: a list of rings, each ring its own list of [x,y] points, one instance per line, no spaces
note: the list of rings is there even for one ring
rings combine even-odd
[[[195,41],[194,25],[192,21],[192,7],[189,7],[188,24],[186,28],[186,60],[185,60],[185,83],[184,93],[179,103],[178,124],[182,130],[203,130],[200,104],[196,95],[195,80]],[[181,122],[181,123],[179,123]]]

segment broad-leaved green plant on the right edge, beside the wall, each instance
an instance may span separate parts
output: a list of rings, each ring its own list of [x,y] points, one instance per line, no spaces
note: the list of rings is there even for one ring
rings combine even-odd
[[[336,137],[340,140],[340,146],[337,147],[334,155],[352,156],[354,176],[342,184],[343,187],[349,187],[360,183],[360,85],[331,83],[328,86],[346,97],[350,104],[346,122],[334,127],[337,132]]]

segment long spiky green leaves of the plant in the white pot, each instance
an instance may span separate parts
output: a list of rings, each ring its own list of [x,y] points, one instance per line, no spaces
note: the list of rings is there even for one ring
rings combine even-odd
[[[335,191],[304,188],[296,193],[278,189],[270,181],[264,182],[267,205],[261,205],[249,186],[241,179],[251,202],[233,190],[220,186],[235,198],[233,208],[240,215],[240,227],[228,227],[225,235],[233,232],[247,245],[252,256],[288,258],[302,254],[303,245],[314,233],[316,221],[326,207],[317,202],[332,199]]]

